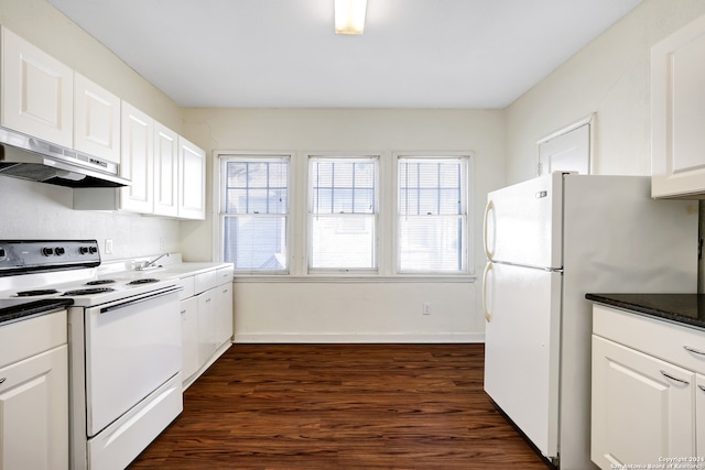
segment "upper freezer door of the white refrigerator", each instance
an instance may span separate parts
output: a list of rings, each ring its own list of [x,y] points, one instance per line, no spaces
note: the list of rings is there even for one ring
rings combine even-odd
[[[550,175],[487,195],[485,252],[488,260],[560,269],[563,175]]]

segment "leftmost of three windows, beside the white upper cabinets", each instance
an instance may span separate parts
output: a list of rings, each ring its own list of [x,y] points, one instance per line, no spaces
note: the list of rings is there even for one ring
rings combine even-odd
[[[224,260],[235,270],[286,273],[288,156],[221,156]]]

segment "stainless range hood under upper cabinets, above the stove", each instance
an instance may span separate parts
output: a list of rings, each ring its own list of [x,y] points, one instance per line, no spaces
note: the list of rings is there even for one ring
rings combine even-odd
[[[0,128],[0,176],[67,187],[120,187],[118,164]]]

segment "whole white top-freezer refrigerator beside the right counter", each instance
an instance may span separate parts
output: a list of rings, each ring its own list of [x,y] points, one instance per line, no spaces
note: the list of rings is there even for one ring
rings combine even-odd
[[[697,203],[651,199],[647,176],[553,173],[488,195],[485,391],[556,467],[597,468],[585,294],[696,292],[697,223]]]

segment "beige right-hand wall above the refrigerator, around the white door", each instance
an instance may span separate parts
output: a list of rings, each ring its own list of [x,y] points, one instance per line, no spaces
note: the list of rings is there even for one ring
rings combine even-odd
[[[644,0],[507,108],[507,183],[533,177],[536,141],[596,113],[596,174],[651,173],[650,50],[705,14],[703,0]]]

